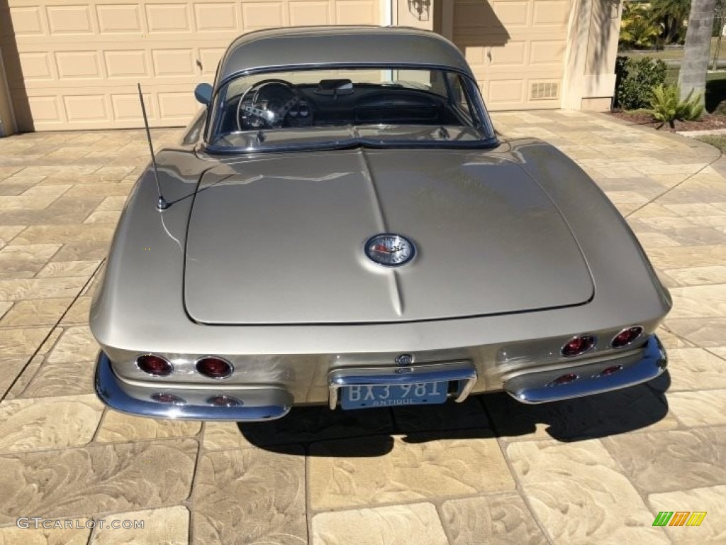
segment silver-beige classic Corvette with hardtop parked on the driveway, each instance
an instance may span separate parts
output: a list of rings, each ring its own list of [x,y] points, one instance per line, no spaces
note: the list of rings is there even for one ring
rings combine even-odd
[[[129,196],[95,387],[169,419],[597,394],[661,374],[671,307],[574,161],[494,130],[411,28],[247,33]]]

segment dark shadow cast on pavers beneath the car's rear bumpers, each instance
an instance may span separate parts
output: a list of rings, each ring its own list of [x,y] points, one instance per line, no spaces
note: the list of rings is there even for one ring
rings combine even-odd
[[[634,387],[540,405],[525,405],[495,392],[444,405],[359,411],[296,407],[285,418],[240,422],[237,427],[251,445],[277,452],[289,452],[292,444],[304,445],[307,456],[383,456],[393,449],[394,436],[406,443],[527,435],[571,443],[656,424],[668,413],[669,385],[666,371]]]

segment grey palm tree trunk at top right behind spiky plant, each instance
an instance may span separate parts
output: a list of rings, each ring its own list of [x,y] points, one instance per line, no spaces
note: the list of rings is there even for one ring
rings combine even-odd
[[[704,102],[715,6],[716,0],[693,0],[690,4],[683,60],[678,74],[681,99],[693,90],[694,96],[701,94],[701,104]]]

